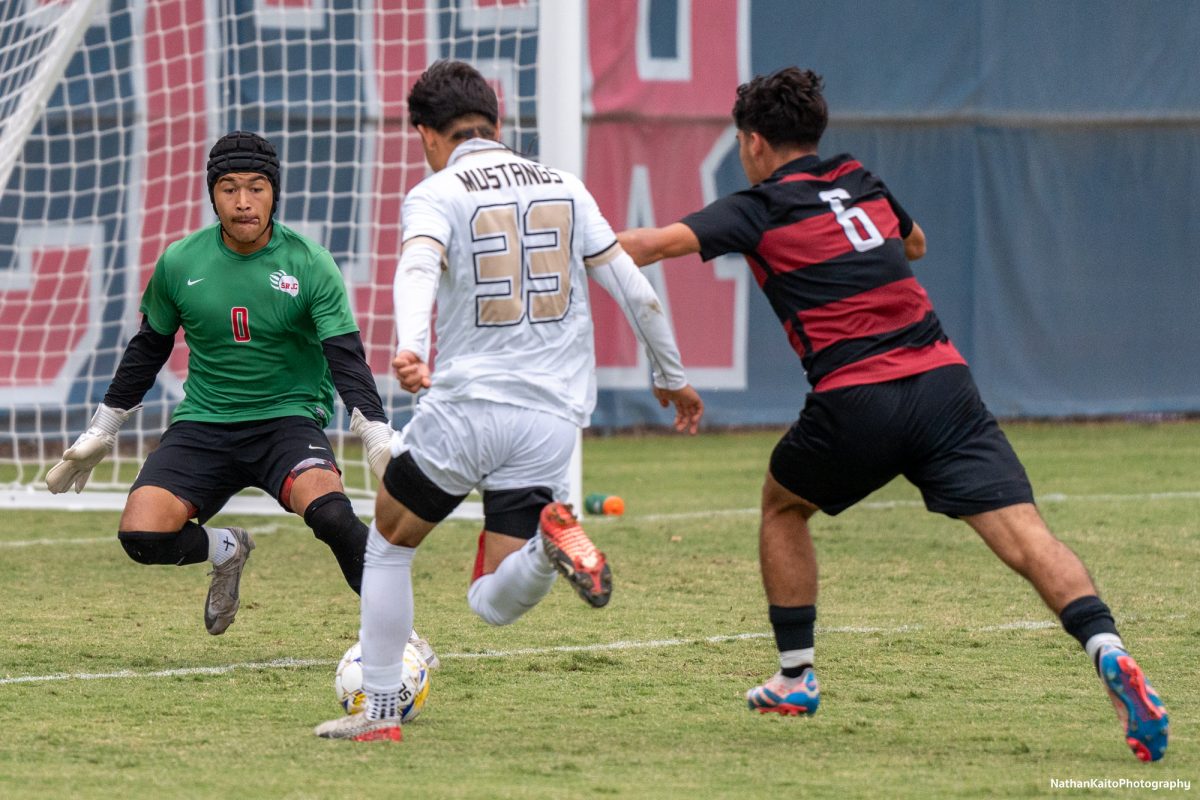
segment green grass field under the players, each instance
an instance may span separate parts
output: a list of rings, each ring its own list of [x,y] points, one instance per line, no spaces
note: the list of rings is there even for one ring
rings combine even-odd
[[[1139,763],[1082,651],[961,523],[894,483],[818,516],[812,718],[758,716],[776,667],[755,506],[774,432],[589,438],[587,522],[611,604],[564,584],[516,625],[466,604],[478,523],[414,566],[438,648],[404,741],[316,739],[358,600],[296,518],[227,517],[258,549],[204,632],[202,565],[145,567],[115,513],[0,512],[0,798],[946,798],[1200,789],[1200,423],[1009,425],[1055,531],[1088,564],[1171,714]],[[221,521],[222,518],[218,518]],[[1127,784],[1128,787],[1128,784]],[[1147,788],[1100,790],[1142,794]]]

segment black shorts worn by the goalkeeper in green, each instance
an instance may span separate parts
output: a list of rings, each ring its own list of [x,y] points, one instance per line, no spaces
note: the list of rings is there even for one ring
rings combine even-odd
[[[200,523],[238,492],[257,487],[283,503],[283,485],[305,464],[337,468],[325,432],[304,416],[235,422],[175,422],[150,453],[133,489],[157,486],[196,509]]]

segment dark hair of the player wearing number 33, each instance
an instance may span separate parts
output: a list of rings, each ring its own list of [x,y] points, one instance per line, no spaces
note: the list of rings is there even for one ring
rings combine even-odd
[[[414,126],[448,133],[456,121],[469,116],[485,121],[454,131],[455,139],[496,137],[499,101],[479,70],[463,61],[434,61],[408,92],[408,119]]]

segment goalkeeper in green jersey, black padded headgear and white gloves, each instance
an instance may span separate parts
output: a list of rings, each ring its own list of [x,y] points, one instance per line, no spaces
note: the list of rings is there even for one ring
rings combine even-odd
[[[271,143],[242,131],[221,137],[209,152],[208,186],[220,222],[160,257],[142,296],[140,329],[88,431],[46,485],[54,493],[83,489],[182,329],[184,399],[133,482],[118,539],[139,564],[211,561],[204,625],[218,634],[238,613],[254,540],[241,528],[205,523],[232,495],[258,487],[304,517],[358,593],[367,529],[323,431],[334,389],[379,475],[391,427],[337,265],[324,247],[275,222],[280,160]]]

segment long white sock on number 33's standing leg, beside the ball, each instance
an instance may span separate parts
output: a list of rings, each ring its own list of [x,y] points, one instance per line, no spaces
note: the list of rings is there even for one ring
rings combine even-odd
[[[374,522],[367,533],[362,566],[362,601],[359,637],[362,642],[362,691],[367,718],[397,715],[403,681],[404,646],[413,631],[412,547],[392,545]]]

